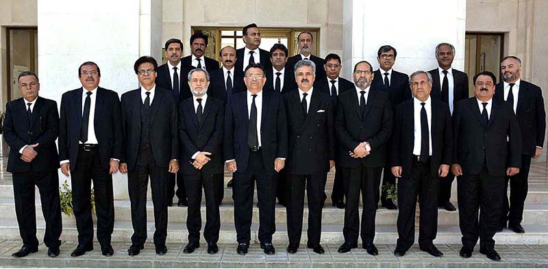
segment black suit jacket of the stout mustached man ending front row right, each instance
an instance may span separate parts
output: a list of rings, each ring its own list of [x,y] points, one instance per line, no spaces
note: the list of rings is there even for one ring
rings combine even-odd
[[[477,99],[472,97],[453,110],[453,164],[460,164],[464,174],[477,175],[484,159],[493,176],[503,177],[507,167],[520,167],[521,132],[512,107],[496,99],[484,131]]]

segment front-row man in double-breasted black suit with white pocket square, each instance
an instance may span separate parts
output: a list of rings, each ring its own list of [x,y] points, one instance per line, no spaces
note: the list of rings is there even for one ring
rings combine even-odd
[[[329,94],[312,86],[316,66],[310,60],[295,64],[298,88],[284,95],[288,122],[287,230],[288,253],[297,253],[303,231],[304,190],[308,196],[308,243],[321,246],[321,212],[327,172],[335,165],[334,107]]]

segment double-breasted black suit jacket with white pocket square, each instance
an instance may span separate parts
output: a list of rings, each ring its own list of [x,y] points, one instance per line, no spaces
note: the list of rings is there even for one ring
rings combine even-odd
[[[329,172],[329,160],[335,160],[334,106],[325,92],[312,90],[308,114],[301,106],[299,90],[284,94],[288,125],[290,175],[318,175]]]

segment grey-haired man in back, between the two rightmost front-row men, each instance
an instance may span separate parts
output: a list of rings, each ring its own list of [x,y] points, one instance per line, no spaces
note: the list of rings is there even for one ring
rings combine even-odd
[[[454,58],[455,47],[449,43],[440,43],[436,46],[438,68],[428,71],[433,80],[430,96],[447,103],[451,114],[458,101],[468,99],[468,75],[451,67]],[[455,206],[449,201],[453,179],[455,177],[451,174],[440,177],[437,203],[438,207],[447,211],[456,211]]]

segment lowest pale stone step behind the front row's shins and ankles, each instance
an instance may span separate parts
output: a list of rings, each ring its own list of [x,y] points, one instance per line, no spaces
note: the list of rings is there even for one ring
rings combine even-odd
[[[204,225],[202,225],[203,229]],[[548,244],[548,225],[523,225],[525,233],[514,233],[505,229],[495,235],[497,244]],[[306,225],[303,227],[301,244],[306,244]],[[37,236],[43,238],[45,224],[37,222]],[[152,244],[154,222],[147,222],[148,244]],[[322,226],[322,244],[342,244],[343,225],[323,225]],[[114,233],[112,241],[128,241],[133,233],[132,222],[118,221],[114,224]],[[187,242],[188,233],[184,223],[168,224],[168,243]],[[415,240],[418,234],[415,235]],[[460,244],[460,229],[458,225],[439,225],[438,235],[435,244]],[[16,220],[0,219],[0,240],[21,240]],[[63,223],[63,233],[61,240],[76,241],[77,230],[73,222]],[[203,239],[201,239],[203,241]],[[397,240],[396,225],[377,225],[375,243],[376,244],[395,244]],[[358,240],[360,241],[360,240]],[[236,242],[236,231],[232,224],[222,224],[219,234],[219,244],[231,244]],[[258,224],[253,222],[251,226],[251,242],[258,243]],[[284,225],[277,225],[276,232],[273,235],[273,244],[288,244],[287,229]],[[305,245],[306,246],[306,245]]]

